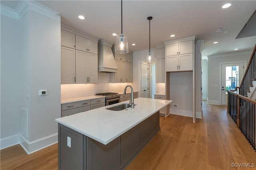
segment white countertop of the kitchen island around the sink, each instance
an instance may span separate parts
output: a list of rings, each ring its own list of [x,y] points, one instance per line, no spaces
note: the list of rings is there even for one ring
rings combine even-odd
[[[171,102],[171,100],[136,98],[134,99],[136,106],[134,106],[133,109],[128,108],[121,111],[105,109],[127,103],[126,101],[66,117],[60,117],[55,119],[55,121],[107,145]]]

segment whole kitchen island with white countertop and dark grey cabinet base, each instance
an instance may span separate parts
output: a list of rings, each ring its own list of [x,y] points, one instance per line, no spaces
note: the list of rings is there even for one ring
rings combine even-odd
[[[124,169],[160,129],[159,110],[170,100],[137,98],[134,108],[98,109],[56,119],[58,168]]]

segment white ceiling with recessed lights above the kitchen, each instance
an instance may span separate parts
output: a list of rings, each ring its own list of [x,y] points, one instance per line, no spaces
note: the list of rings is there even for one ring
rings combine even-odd
[[[61,22],[85,33],[115,43],[112,33],[121,33],[120,0],[38,0],[57,12]],[[230,8],[222,9],[226,3]],[[17,1],[2,1],[1,4],[15,8]],[[165,41],[197,35],[204,39],[203,56],[227,53],[238,48],[239,51],[252,50],[256,36],[235,39],[250,16],[256,10],[256,1],[224,0],[123,0],[123,33],[128,37],[129,49],[141,51],[164,45]],[[78,19],[85,16],[85,20]],[[255,23],[256,24],[256,23]],[[221,33],[216,33],[222,28]],[[126,32],[127,31],[127,32]],[[225,34],[224,31],[227,31]],[[170,37],[175,34],[175,37]],[[213,44],[214,41],[219,43]],[[131,44],[135,43],[136,46]]]

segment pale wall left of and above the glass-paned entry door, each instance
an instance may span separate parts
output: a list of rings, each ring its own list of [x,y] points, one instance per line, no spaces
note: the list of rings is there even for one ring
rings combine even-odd
[[[208,56],[208,104],[221,104],[220,63],[247,61],[248,64],[251,54],[252,50]]]

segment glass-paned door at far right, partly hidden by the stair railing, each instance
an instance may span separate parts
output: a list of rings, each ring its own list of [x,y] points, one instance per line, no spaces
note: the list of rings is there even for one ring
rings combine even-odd
[[[244,63],[221,64],[221,104],[228,103],[228,90],[235,90],[244,75]]]

